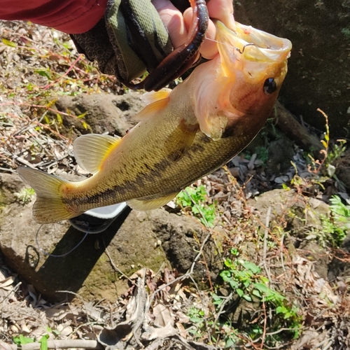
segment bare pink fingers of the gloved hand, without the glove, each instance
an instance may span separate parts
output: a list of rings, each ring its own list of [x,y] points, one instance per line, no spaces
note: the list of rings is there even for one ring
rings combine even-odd
[[[186,43],[188,31],[193,23],[192,8],[188,8],[182,14],[169,0],[153,0],[152,3],[169,31],[174,48],[179,48],[179,46]],[[207,8],[210,18],[221,20],[226,26],[230,27],[230,22],[233,20],[232,0],[210,0],[207,3]],[[211,59],[218,53],[214,41],[215,36],[216,27],[214,22],[209,20],[207,36],[200,48],[200,53],[204,58]]]

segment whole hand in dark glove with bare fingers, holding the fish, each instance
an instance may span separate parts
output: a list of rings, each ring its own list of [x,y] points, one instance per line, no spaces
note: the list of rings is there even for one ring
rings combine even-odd
[[[139,5],[141,2],[142,6]],[[128,6],[128,1],[124,3],[125,15],[123,15],[123,11],[120,11],[121,3],[123,1],[111,0],[109,7],[106,8],[104,18],[97,25],[85,33],[72,35],[78,52],[84,53],[91,61],[96,60],[102,73],[114,74],[125,85],[141,76],[144,71],[151,72],[152,78],[151,80],[148,78],[147,86],[143,81],[136,85],[129,84],[132,88],[144,87],[146,90],[154,90],[160,88],[160,85],[164,83],[169,83],[168,80],[172,80],[176,74],[181,75],[181,69],[186,69],[186,66],[179,66],[178,59],[176,64],[179,67],[176,69],[172,65],[172,59],[176,59],[178,53],[176,48],[181,51],[181,46],[186,45],[190,40],[188,31],[193,25],[193,9],[188,8],[182,14],[169,0],[153,0],[153,3],[148,2],[148,0],[130,0],[130,6]],[[147,9],[146,18],[142,12],[145,8]],[[217,18],[227,27],[231,27],[233,20],[232,0],[210,0],[207,3],[207,8],[211,18]],[[118,17],[120,13],[122,18]],[[127,23],[126,20],[129,19],[132,20]],[[146,38],[142,38],[141,41],[139,29],[135,25],[139,20],[141,20],[142,23],[139,23],[142,24],[142,30],[146,34]],[[120,25],[118,25],[118,21]],[[155,23],[159,27],[155,27]],[[200,53],[207,59],[214,58],[218,52],[214,41],[215,36],[216,27],[214,22],[210,20],[207,39],[200,46]],[[155,37],[157,38],[156,42]],[[145,45],[146,49],[144,49]],[[172,51],[173,47],[174,51]],[[174,55],[172,55],[173,53]],[[165,61],[169,57],[170,61]],[[184,60],[185,64],[193,62],[188,58],[186,57]],[[166,63],[156,71],[162,62]],[[182,63],[180,62],[180,64]],[[160,76],[163,78],[161,79]],[[158,83],[155,87],[156,80]]]

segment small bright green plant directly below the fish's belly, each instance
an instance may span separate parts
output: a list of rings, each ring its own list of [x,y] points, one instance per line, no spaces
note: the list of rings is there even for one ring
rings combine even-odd
[[[176,204],[183,208],[190,207],[193,215],[200,218],[203,225],[214,226],[216,218],[215,204],[207,204],[207,190],[203,185],[188,187],[176,197]]]

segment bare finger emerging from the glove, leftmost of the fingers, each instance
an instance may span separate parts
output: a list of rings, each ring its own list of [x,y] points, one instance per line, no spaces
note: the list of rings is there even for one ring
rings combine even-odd
[[[174,48],[186,43],[188,30],[183,22],[182,13],[169,0],[153,0],[152,3],[168,29]]]

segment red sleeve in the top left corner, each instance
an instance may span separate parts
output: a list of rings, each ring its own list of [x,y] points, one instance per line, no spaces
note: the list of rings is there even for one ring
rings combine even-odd
[[[29,20],[69,34],[88,31],[101,20],[107,0],[2,0],[1,20]]]

